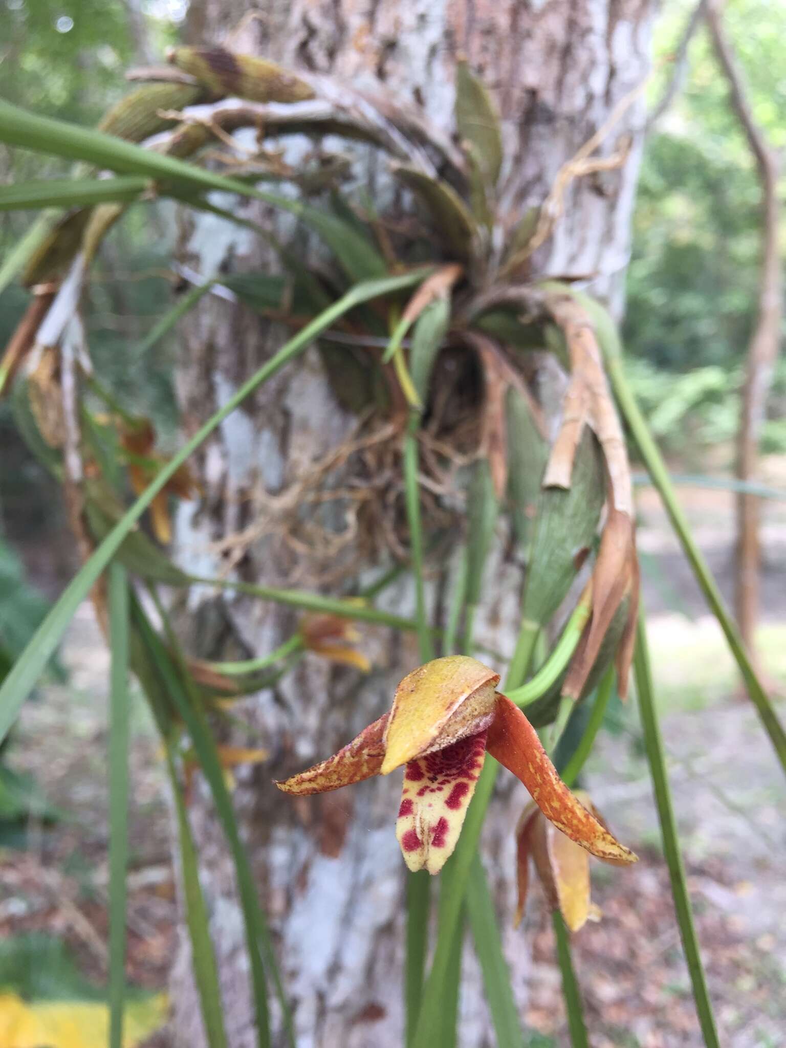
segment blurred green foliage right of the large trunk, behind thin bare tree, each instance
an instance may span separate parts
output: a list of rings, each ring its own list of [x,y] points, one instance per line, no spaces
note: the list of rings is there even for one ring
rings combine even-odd
[[[655,36],[650,103],[672,75],[673,54],[696,0],[671,0]],[[729,37],[754,116],[786,143],[786,6],[730,0]],[[657,63],[661,63],[659,66]],[[678,449],[733,438],[759,277],[759,184],[728,105],[728,88],[700,25],[684,87],[645,151],[628,272],[626,345],[635,389],[656,435]],[[632,362],[633,363],[633,362]],[[786,451],[786,371],[780,367],[765,451]]]

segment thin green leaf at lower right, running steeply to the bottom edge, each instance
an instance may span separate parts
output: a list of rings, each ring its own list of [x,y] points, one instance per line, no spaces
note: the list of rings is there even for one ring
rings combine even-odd
[[[674,909],[677,913],[677,923],[679,924],[682,937],[682,948],[685,952],[687,969],[691,974],[696,1014],[699,1019],[704,1044],[707,1048],[719,1048],[720,1042],[718,1041],[713,1005],[709,1001],[709,992],[707,990],[706,979],[704,978],[704,967],[701,963],[699,940],[696,936],[696,929],[693,922],[691,897],[687,894],[685,869],[682,864],[682,852],[679,847],[679,835],[677,833],[677,820],[674,815],[672,791],[665,768],[665,752],[663,750],[663,740],[660,735],[660,725],[658,724],[658,715],[655,705],[643,611],[639,612],[638,625],[636,627],[633,672],[636,680],[636,694],[638,696],[638,708],[645,735],[647,759],[650,763],[650,774],[655,792],[655,803],[658,809],[660,832],[663,838],[663,852],[669,867],[669,876],[672,881],[672,896],[674,898]]]

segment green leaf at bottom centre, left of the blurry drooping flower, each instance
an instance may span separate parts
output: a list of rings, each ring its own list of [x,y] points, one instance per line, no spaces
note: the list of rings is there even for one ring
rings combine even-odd
[[[510,970],[502,951],[502,939],[485,870],[477,852],[470,870],[466,912],[483,973],[486,1002],[497,1032],[497,1044],[500,1048],[524,1048],[519,1011],[510,987]]]

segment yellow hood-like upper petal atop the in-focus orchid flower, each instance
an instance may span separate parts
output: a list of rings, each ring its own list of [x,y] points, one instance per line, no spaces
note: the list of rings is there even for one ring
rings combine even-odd
[[[419,667],[396,689],[381,774],[488,726],[500,676],[466,655]]]

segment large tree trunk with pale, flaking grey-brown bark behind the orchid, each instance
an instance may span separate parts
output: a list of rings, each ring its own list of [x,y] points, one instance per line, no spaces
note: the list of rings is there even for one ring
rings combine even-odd
[[[652,0],[270,0],[263,19],[246,20],[234,49],[275,59],[293,69],[328,73],[388,90],[421,106],[431,121],[453,131],[454,70],[464,52],[489,85],[504,119],[508,163],[504,200],[512,219],[546,197],[554,176],[637,88],[648,70]],[[205,0],[196,8],[204,43],[224,40],[240,21],[241,0]],[[639,96],[640,97],[640,96]],[[616,169],[574,180],[553,237],[540,250],[544,274],[591,275],[592,291],[619,304],[628,261],[630,216],[640,153],[641,111],[626,109],[606,135],[601,155],[628,152]],[[298,161],[308,144],[289,143]],[[342,144],[343,150],[351,147]],[[362,184],[385,201],[381,154],[354,150]],[[260,217],[257,204],[243,214]],[[287,236],[286,219],[264,221]],[[217,269],[266,269],[274,262],[259,240],[213,216],[183,219],[180,258],[203,277]],[[202,300],[183,327],[178,391],[187,431],[204,419],[280,345],[282,332],[248,310],[216,297]],[[380,420],[380,422],[384,420]],[[386,521],[402,504],[400,485],[380,506],[369,533],[351,501],[324,502],[339,481],[361,484],[375,461],[373,443],[328,475],[328,454],[356,436],[357,419],[335,401],[320,356],[309,351],[294,367],[263,386],[205,445],[198,467],[204,498],[182,503],[176,554],[189,570],[218,574],[230,563],[246,581],[351,592],[358,580],[385,567]],[[363,435],[368,435],[368,427]],[[370,463],[370,464],[369,464]],[[323,468],[324,467],[324,468]],[[394,463],[400,473],[400,464]],[[396,474],[396,476],[399,475]],[[324,474],[324,475],[323,475]],[[307,494],[322,502],[309,503]],[[304,509],[312,505],[313,512]],[[364,510],[365,512],[365,510]],[[486,578],[492,596],[480,609],[477,637],[510,651],[518,629],[521,570],[504,562],[506,524]],[[391,540],[389,545],[395,545]],[[228,560],[227,560],[228,559]],[[388,563],[389,560],[388,560]],[[439,566],[432,565],[440,575]],[[444,571],[430,587],[436,619]],[[409,582],[385,591],[379,605],[414,611]],[[289,636],[291,611],[242,597],[218,599],[193,590],[191,643],[204,658],[247,657]],[[390,704],[397,681],[418,663],[412,636],[364,630],[375,669],[369,677],[308,655],[275,691],[248,700],[242,711],[269,749],[268,763],[238,774],[234,794],[261,898],[274,926],[278,956],[303,1048],[364,1048],[401,1043],[405,867],[394,836],[399,783],[373,779],[353,789],[293,803],[272,787],[347,742]],[[235,741],[249,742],[238,736]],[[526,800],[507,777],[493,805],[483,840],[492,888],[523,1002],[528,965],[524,935],[510,931],[514,905],[512,829]],[[194,791],[191,813],[212,911],[227,1036],[233,1048],[254,1043],[243,931],[232,864],[206,800]],[[461,998],[462,1042],[489,1042],[477,966],[466,952]],[[187,936],[173,977],[177,1044],[203,1044]],[[278,1043],[278,1042],[277,1042]]]

